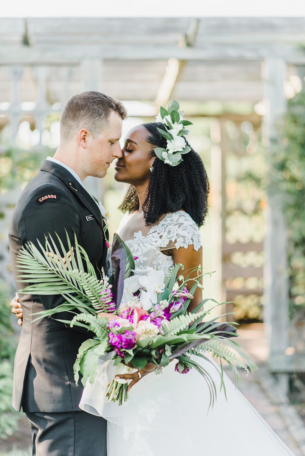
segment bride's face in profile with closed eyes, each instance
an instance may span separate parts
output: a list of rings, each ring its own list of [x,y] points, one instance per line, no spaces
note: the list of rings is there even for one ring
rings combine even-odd
[[[137,186],[148,183],[155,156],[151,157],[152,145],[147,142],[149,133],[138,125],[126,135],[122,158],[116,161],[115,179]]]

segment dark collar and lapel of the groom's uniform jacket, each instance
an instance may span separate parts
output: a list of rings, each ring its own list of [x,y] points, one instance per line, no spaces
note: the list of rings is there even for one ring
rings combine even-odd
[[[104,221],[100,212],[100,208],[93,200],[93,198],[89,195],[89,193],[84,189],[84,187],[75,180],[74,176],[72,176],[72,174],[66,168],[58,165],[57,163],[54,163],[53,161],[45,160],[42,163],[40,170],[51,172],[61,181],[63,181],[68,189],[74,193],[75,197],[78,198],[84,204],[84,206],[89,209],[91,215],[94,216],[95,220],[97,223],[99,223],[104,233]]]

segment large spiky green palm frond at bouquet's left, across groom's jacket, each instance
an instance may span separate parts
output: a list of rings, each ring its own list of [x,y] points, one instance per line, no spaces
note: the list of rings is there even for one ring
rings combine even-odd
[[[57,234],[56,234],[57,235]],[[98,280],[95,269],[89,261],[85,250],[77,243],[74,234],[74,247],[68,237],[68,253],[63,242],[58,238],[60,249],[52,236],[46,237],[46,246],[39,243],[41,252],[30,242],[21,249],[18,255],[18,269],[23,282],[28,285],[21,293],[35,293],[39,295],[66,295],[67,301],[79,309],[81,303],[89,311],[89,306],[98,311],[108,311],[111,298],[103,280]],[[61,250],[61,251],[60,251]],[[87,271],[84,270],[84,264]],[[76,294],[77,299],[72,297]],[[102,301],[101,301],[101,298]],[[63,307],[55,312],[63,311]],[[42,316],[52,315],[53,311],[42,311]]]

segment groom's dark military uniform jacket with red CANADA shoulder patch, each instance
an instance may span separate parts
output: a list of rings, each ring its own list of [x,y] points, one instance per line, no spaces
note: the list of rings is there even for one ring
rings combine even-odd
[[[65,247],[66,231],[87,252],[97,274],[105,264],[104,222],[100,209],[80,183],[63,166],[44,161],[42,168],[21,193],[11,221],[9,241],[17,290],[16,258],[28,241],[44,246],[45,235],[55,233]],[[74,382],[73,365],[79,346],[90,337],[53,318],[32,322],[33,313],[53,308],[64,300],[60,295],[19,295],[23,324],[18,344],[13,400],[14,409],[25,412],[70,412],[79,410],[83,387]],[[57,314],[58,315],[58,314]],[[73,314],[61,314],[71,320]],[[56,316],[58,318],[58,316]]]

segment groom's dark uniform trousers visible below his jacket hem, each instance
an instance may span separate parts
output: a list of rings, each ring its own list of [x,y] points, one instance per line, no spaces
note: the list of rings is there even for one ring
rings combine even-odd
[[[77,412],[26,412],[33,456],[107,456],[107,421]]]

